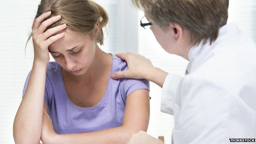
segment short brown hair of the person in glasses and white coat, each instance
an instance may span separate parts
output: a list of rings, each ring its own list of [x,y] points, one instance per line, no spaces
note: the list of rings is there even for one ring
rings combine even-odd
[[[178,23],[190,36],[192,45],[202,40],[210,43],[218,37],[219,28],[228,19],[229,0],[133,0],[146,16],[163,30]]]

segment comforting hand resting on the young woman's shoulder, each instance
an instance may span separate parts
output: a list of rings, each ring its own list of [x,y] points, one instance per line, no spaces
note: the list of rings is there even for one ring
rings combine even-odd
[[[133,53],[119,53],[117,57],[125,60],[128,64],[128,70],[117,71],[111,75],[113,79],[119,78],[134,78],[134,79],[148,79],[150,72],[155,69],[150,59],[146,59],[142,55]]]

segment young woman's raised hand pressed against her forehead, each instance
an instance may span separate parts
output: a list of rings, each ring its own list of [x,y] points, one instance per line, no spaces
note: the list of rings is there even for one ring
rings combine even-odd
[[[43,13],[38,18],[34,19],[32,25],[34,62],[46,65],[50,61],[48,46],[50,46],[50,44],[57,41],[58,39],[62,38],[64,36],[64,33],[60,33],[54,36],[52,35],[66,28],[66,24],[63,24],[46,30],[48,26],[61,19],[61,16],[54,16],[44,21],[50,16],[50,14],[50,11]],[[44,32],[45,30],[46,32]]]

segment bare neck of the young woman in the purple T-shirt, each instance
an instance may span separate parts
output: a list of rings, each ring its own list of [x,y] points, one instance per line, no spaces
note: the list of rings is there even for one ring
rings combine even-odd
[[[111,57],[111,59],[110,59]],[[80,84],[91,85],[92,82],[101,78],[101,76],[108,71],[112,65],[112,56],[101,50],[96,44],[95,55],[91,66],[83,75],[73,75],[72,73],[65,72],[69,79]]]

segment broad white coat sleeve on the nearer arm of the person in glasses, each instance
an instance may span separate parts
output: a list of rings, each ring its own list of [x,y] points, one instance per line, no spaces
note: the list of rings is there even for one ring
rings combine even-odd
[[[229,142],[230,100],[234,95],[213,78],[187,75],[183,78],[178,122],[185,144],[225,144]]]

